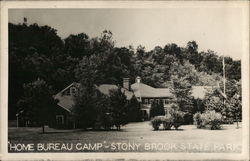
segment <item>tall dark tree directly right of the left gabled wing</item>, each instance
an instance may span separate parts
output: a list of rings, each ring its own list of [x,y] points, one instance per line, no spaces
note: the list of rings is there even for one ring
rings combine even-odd
[[[98,64],[99,59],[95,55],[84,56],[75,69],[75,76],[80,86],[75,97],[74,116],[77,126],[84,129],[94,127],[98,117],[97,105],[104,99],[96,89],[99,77]]]

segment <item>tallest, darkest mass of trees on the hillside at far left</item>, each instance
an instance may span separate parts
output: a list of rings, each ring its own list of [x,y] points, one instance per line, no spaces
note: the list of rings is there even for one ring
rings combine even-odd
[[[9,23],[9,119],[18,112],[17,102],[24,93],[23,84],[38,77],[54,87],[51,75],[53,57],[63,55],[63,41],[49,26]]]

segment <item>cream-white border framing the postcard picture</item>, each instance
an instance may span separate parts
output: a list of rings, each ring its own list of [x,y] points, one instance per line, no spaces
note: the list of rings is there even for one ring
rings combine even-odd
[[[232,159],[249,160],[249,3],[247,1],[3,1],[1,3],[1,154],[3,160],[30,159]],[[8,9],[11,8],[240,8],[242,27],[243,151],[231,153],[8,153]],[[240,33],[240,32],[239,32]]]

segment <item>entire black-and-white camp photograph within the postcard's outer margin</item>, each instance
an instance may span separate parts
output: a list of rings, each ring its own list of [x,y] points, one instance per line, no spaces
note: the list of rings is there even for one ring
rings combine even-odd
[[[8,8],[7,153],[242,154],[245,5],[214,4]]]

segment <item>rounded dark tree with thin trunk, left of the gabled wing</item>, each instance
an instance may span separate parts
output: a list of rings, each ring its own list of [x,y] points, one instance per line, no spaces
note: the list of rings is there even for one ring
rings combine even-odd
[[[19,111],[35,125],[44,126],[50,124],[57,101],[52,97],[51,87],[39,78],[31,83],[24,84],[24,95],[19,100]]]

